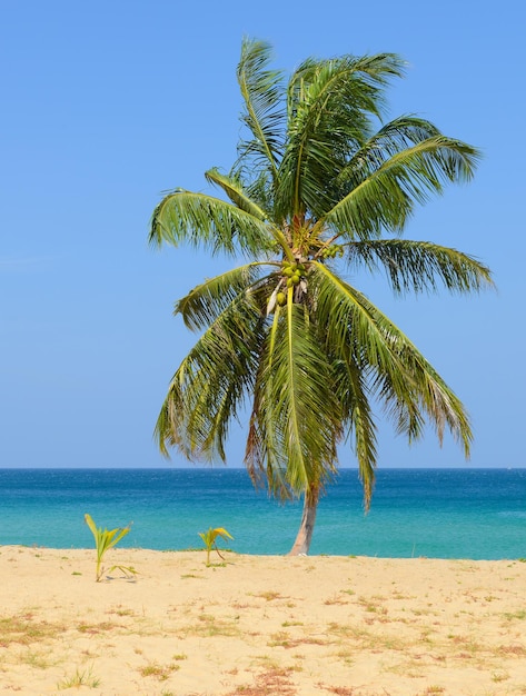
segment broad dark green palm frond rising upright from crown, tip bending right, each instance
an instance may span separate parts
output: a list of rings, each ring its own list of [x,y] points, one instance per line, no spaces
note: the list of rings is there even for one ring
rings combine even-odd
[[[338,176],[349,152],[364,142],[370,115],[379,116],[383,87],[400,74],[394,54],[306,61],[288,87],[288,140],[280,167],[278,207],[320,217],[328,182]]]

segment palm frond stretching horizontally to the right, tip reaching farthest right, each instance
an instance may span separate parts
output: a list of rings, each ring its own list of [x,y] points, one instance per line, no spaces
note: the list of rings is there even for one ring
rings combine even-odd
[[[493,287],[492,271],[467,253],[428,241],[379,239],[345,246],[351,268],[365,265],[369,270],[384,267],[393,290],[436,291],[440,280],[451,292],[479,291]]]

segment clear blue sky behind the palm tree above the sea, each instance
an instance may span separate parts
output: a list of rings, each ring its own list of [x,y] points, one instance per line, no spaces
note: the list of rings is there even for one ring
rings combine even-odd
[[[526,466],[525,19],[520,0],[0,2],[0,467],[167,466],[152,429],[195,340],[172,305],[217,261],[149,248],[148,221],[162,191],[206,189],[206,169],[232,163],[244,34],[287,70],[398,52],[390,116],[484,151],[406,237],[475,255],[498,292],[403,300],[355,281],[467,406],[470,466]],[[408,448],[387,425],[379,454],[380,467],[464,464],[451,441]],[[238,432],[230,457],[241,466]]]

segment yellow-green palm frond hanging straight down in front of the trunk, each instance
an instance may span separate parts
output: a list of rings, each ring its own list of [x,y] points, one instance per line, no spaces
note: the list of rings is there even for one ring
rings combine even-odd
[[[261,356],[265,368],[255,385],[247,458],[259,469],[277,460],[277,468],[286,471],[287,485],[299,495],[309,481],[326,480],[335,471],[340,407],[330,389],[329,365],[305,309],[290,301],[279,317],[274,335],[268,336]]]

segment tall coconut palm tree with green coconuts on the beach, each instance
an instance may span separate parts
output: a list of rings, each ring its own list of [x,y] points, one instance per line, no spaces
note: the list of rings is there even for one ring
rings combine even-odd
[[[161,451],[225,460],[232,420],[250,409],[245,464],[255,485],[304,496],[291,554],[307,553],[325,486],[349,440],[368,509],[380,405],[398,432],[426,421],[469,454],[468,416],[436,370],[341,270],[384,270],[398,294],[492,285],[473,257],[401,239],[417,203],[469,180],[478,152],[416,116],[383,122],[391,53],[308,59],[285,76],[270,47],[245,40],[237,78],[241,140],[230,173],[206,172],[221,197],[176,189],[150,241],[242,264],[207,279],[175,314],[200,334],[177,369],[156,426]]]

